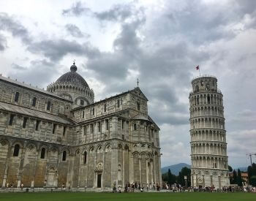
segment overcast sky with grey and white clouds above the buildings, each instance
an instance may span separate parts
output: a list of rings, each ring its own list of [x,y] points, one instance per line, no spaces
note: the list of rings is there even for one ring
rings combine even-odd
[[[0,1],[0,73],[46,88],[76,60],[95,100],[136,86],[161,128],[162,167],[190,164],[189,91],[224,94],[233,167],[256,152],[256,1]],[[256,158],[253,158],[256,161]]]

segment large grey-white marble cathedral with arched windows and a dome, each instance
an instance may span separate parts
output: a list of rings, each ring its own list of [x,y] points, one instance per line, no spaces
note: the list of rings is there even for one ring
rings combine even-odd
[[[47,90],[0,76],[0,186],[161,185],[159,127],[136,87],[94,102],[70,71]]]

